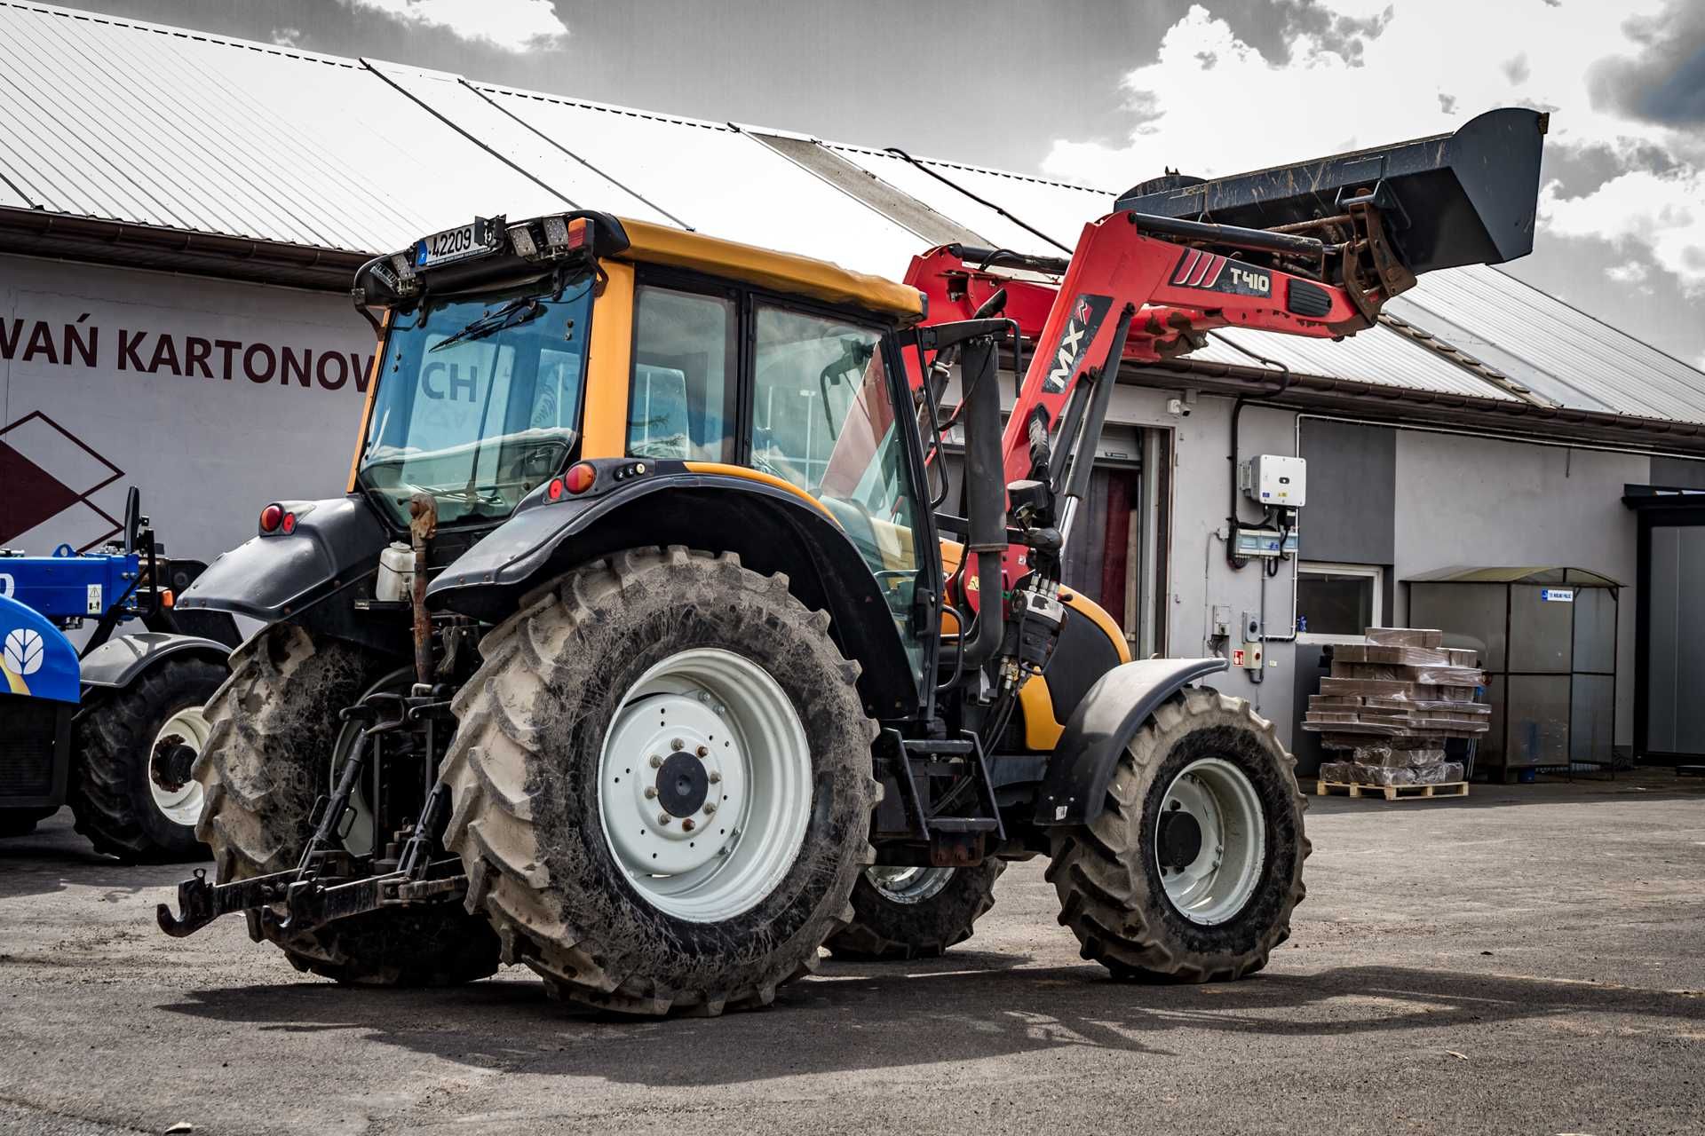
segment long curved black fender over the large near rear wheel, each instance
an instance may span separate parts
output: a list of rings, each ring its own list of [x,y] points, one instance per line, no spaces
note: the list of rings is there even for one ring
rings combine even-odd
[[[583,494],[540,485],[426,588],[426,606],[496,623],[527,593],[621,548],[687,545],[733,552],[755,572],[784,572],[825,610],[830,634],[863,664],[859,691],[878,719],[917,712],[917,680],[900,630],[847,533],[812,499],[754,477],[694,472],[682,462],[590,462]],[[636,472],[638,470],[638,472]]]

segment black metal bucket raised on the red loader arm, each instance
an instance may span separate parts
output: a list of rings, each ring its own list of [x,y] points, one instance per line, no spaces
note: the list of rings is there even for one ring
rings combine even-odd
[[[1504,107],[1454,135],[1211,181],[1170,175],[1127,191],[1117,208],[1274,228],[1340,215],[1373,192],[1410,271],[1500,264],[1533,252],[1546,118]]]

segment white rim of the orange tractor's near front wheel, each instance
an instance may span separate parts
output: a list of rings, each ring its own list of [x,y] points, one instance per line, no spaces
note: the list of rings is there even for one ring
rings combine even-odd
[[[1200,831],[1188,863],[1168,863],[1159,831],[1168,812],[1185,814]],[[1173,908],[1204,927],[1236,916],[1255,894],[1267,860],[1267,818],[1248,775],[1222,758],[1192,761],[1166,787],[1156,829],[1154,863]]]

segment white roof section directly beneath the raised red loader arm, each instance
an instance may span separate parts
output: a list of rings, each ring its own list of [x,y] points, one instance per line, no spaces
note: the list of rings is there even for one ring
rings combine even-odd
[[[1277,359],[1292,371],[1306,375],[1347,378],[1376,387],[1477,395],[1502,402],[1516,400],[1512,395],[1470,375],[1449,359],[1384,327],[1369,327],[1337,342],[1332,339],[1251,332],[1248,329],[1221,329],[1209,337],[1207,347],[1192,351],[1185,358],[1234,363],[1238,366],[1260,366],[1260,363],[1228,346],[1222,339],[1263,354],[1269,359]]]

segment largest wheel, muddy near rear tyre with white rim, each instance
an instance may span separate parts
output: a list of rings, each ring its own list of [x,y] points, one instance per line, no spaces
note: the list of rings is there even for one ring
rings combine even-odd
[[[767,1005],[871,862],[876,724],[829,617],[731,554],[639,548],[486,635],[445,761],[469,908],[616,1013]]]

